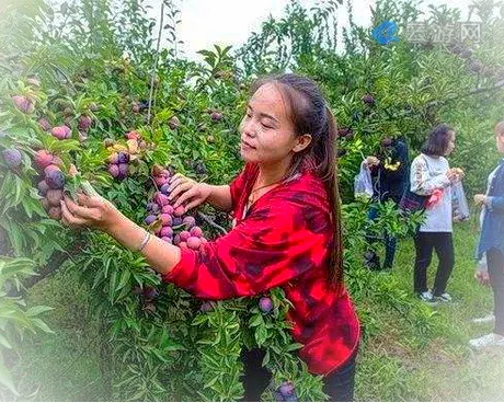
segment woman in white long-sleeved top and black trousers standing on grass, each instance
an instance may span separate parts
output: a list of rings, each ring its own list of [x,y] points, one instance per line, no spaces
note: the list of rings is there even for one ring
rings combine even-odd
[[[427,141],[411,164],[411,192],[428,196],[425,221],[415,235],[415,266],[413,289],[426,303],[451,301],[446,291],[448,279],[455,265],[451,239],[451,184],[461,180],[463,172],[450,169],[445,157],[455,149],[455,130],[445,124],[436,126]],[[434,288],[427,288],[427,268],[433,251],[439,258]]]

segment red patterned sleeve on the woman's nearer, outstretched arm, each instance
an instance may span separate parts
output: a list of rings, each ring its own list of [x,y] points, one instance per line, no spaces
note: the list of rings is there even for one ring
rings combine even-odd
[[[257,295],[322,269],[331,233],[327,214],[279,197],[267,202],[202,251],[182,250],[164,280],[198,298],[220,300]]]

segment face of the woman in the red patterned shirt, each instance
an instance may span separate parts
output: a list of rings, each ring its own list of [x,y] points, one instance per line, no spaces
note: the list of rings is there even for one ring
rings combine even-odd
[[[288,107],[273,83],[260,87],[252,95],[240,124],[240,135],[243,160],[261,164],[290,159],[293,152],[299,151],[299,137],[302,137],[295,135]]]

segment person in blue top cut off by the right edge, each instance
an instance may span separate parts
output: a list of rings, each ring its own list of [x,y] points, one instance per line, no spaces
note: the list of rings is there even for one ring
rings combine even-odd
[[[504,122],[495,126],[495,141],[499,152],[504,153]],[[474,203],[484,209],[477,257],[486,254],[495,327],[492,333],[473,338],[469,344],[474,348],[504,348],[504,159],[490,174],[488,183],[485,195],[474,195]]]

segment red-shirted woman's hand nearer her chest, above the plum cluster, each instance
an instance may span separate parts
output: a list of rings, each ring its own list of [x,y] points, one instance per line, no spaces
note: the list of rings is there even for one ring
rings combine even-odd
[[[173,207],[184,206],[186,211],[205,203],[211,193],[210,185],[198,183],[180,173],[172,176],[169,184],[168,198],[170,202],[174,200]]]

